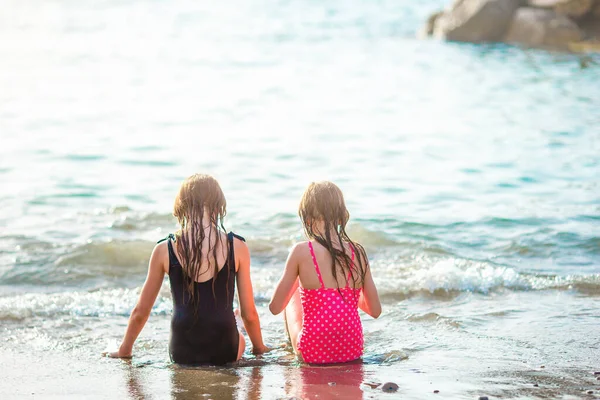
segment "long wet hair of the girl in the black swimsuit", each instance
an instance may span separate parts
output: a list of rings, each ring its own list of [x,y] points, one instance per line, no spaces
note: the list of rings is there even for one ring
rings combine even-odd
[[[184,276],[184,292],[187,292],[193,304],[197,304],[194,282],[197,276],[208,271],[214,265],[212,291],[215,296],[215,280],[219,273],[217,248],[223,249],[221,233],[226,232],[223,219],[227,214],[225,195],[219,182],[210,175],[195,174],[181,184],[175,198],[173,215],[179,222],[180,229],[175,233],[177,240],[177,255],[186,273]],[[203,226],[203,222],[208,226]],[[208,228],[208,236],[205,229]],[[207,239],[208,250],[202,257],[202,242]],[[211,243],[214,241],[214,245]],[[229,260],[227,253],[226,260]],[[205,267],[202,268],[203,262]],[[229,274],[229,268],[227,268]],[[229,278],[229,277],[228,277]],[[229,287],[228,287],[229,290]],[[227,293],[229,297],[229,293]]]

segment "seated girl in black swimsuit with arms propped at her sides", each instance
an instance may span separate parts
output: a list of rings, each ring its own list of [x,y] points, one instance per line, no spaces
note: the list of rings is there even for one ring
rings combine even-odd
[[[214,178],[196,174],[183,182],[173,211],[181,229],[154,248],[125,337],[109,357],[131,357],[165,274],[173,296],[169,354],[174,362],[219,365],[242,357],[245,340],[233,311],[235,282],[252,352],[268,350],[254,304],[250,253],[244,238],[225,233],[225,213],[225,197]]]

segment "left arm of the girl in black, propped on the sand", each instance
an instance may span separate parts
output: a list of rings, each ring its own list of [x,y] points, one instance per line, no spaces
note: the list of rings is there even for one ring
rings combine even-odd
[[[150,316],[150,311],[152,311],[152,306],[154,306],[156,296],[158,296],[158,292],[162,286],[163,278],[165,276],[165,260],[168,259],[167,242],[157,244],[150,256],[148,276],[146,277],[146,282],[142,288],[140,298],[129,317],[129,324],[127,325],[127,331],[125,332],[121,346],[118,351],[108,353],[109,357],[131,357],[133,343],[144,328],[144,325]]]

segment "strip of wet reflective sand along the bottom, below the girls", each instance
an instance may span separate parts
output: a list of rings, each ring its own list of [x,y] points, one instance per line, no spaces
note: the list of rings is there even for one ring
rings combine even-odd
[[[2,399],[600,398],[594,371],[555,371],[551,366],[523,365],[509,372],[481,365],[463,368],[451,360],[430,360],[423,368],[419,359],[389,366],[365,362],[324,367],[245,359],[235,367],[190,368],[151,363],[143,356],[90,359],[72,351],[34,357],[7,350],[0,351],[0,359]],[[384,392],[386,382],[395,382],[398,390]]]

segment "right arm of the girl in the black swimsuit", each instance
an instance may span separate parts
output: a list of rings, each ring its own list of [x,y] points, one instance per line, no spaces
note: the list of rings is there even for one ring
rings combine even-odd
[[[252,353],[262,354],[269,351],[265,346],[260,331],[260,319],[254,304],[254,293],[252,292],[252,280],[250,279],[250,251],[246,243],[234,239],[234,251],[238,263],[237,288],[240,299],[240,309],[244,328],[252,342]]]

